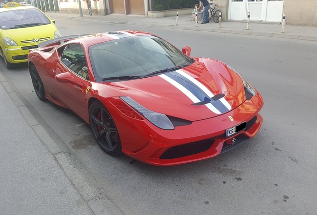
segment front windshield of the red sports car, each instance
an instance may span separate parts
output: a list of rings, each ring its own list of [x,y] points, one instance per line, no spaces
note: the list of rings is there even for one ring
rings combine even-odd
[[[89,56],[97,82],[144,78],[192,63],[165,40],[150,35],[93,45],[89,48]]]

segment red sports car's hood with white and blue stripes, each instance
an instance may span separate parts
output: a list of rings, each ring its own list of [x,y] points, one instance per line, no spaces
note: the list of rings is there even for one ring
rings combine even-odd
[[[241,78],[206,58],[177,71],[110,85],[145,108],[190,121],[218,116],[245,101]]]

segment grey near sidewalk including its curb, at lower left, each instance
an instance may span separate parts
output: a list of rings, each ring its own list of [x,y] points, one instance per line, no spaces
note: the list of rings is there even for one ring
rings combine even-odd
[[[123,215],[0,72],[0,215]]]

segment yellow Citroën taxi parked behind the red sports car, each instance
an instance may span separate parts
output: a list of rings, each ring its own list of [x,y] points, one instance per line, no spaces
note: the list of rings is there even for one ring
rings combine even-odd
[[[34,6],[4,4],[0,8],[0,55],[6,68],[27,62],[28,50],[37,48],[39,42],[60,37],[54,23]]]

